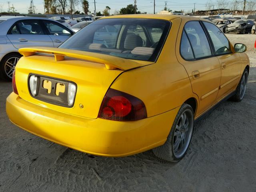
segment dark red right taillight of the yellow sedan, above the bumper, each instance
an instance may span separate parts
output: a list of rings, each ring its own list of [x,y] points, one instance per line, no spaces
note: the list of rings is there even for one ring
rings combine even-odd
[[[103,99],[98,117],[115,121],[135,121],[147,118],[147,111],[142,100],[110,88]]]

